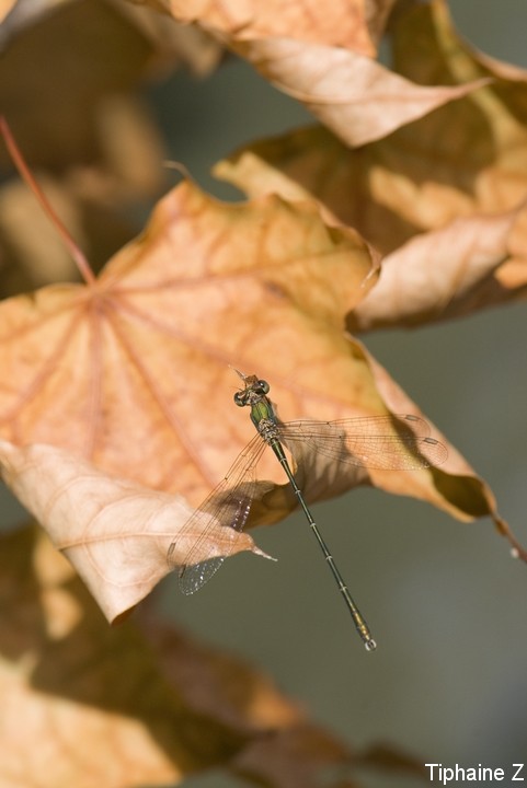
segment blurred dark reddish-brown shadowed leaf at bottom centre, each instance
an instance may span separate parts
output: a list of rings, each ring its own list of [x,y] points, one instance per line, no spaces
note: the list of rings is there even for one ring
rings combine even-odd
[[[144,630],[162,656],[164,674],[192,708],[251,734],[228,764],[233,774],[270,788],[316,788],[324,769],[352,764],[350,749],[308,722],[265,676],[251,675],[244,665],[233,670],[231,658],[199,648],[169,627],[147,623]],[[382,768],[380,761],[373,765]]]

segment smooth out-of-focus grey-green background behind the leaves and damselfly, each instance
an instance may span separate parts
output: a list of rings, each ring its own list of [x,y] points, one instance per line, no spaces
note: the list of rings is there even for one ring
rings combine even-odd
[[[451,0],[457,25],[485,53],[527,67],[520,0]],[[205,80],[180,70],[150,85],[168,157],[207,189],[236,147],[310,116],[245,63]],[[496,309],[416,332],[363,336],[368,349],[463,453],[527,544],[527,306]],[[313,414],[316,417],[317,414]],[[5,494],[7,495],[7,494]],[[5,523],[20,519],[2,503]],[[174,623],[272,674],[312,719],[353,746],[393,744],[423,763],[509,767],[527,753],[527,567],[490,521],[463,524],[413,500],[357,490],[313,507],[378,642],[358,640],[319,548],[299,514],[254,532],[277,564],[239,556],[198,594],[167,580]],[[376,779],[362,775],[376,788]],[[190,788],[241,785],[219,773]],[[405,776],[382,785],[413,785]],[[417,783],[415,783],[417,785]],[[501,784],[503,785],[503,784]]]

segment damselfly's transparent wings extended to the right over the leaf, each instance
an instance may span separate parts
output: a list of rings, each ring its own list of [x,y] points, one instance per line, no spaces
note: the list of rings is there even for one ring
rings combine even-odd
[[[411,414],[367,416],[336,421],[287,421],[278,433],[284,442],[301,441],[337,462],[381,471],[440,465],[447,448],[429,437],[429,425]]]

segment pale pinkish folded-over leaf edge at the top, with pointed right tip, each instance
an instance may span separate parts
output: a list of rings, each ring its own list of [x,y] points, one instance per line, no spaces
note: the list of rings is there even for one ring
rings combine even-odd
[[[486,83],[423,88],[364,55],[293,38],[251,40],[236,49],[350,147],[386,137]]]

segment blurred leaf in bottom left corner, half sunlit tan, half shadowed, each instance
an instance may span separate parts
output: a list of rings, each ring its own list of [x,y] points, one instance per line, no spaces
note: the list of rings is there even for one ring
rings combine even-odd
[[[2,785],[179,784],[242,745],[186,706],[140,633],[107,627],[47,542],[24,530],[1,544]],[[185,735],[196,728],[208,752]]]

